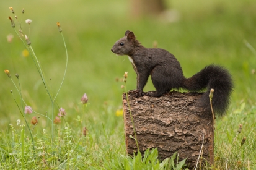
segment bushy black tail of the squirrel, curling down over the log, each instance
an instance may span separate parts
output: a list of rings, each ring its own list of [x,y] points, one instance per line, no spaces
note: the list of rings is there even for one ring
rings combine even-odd
[[[211,88],[214,89],[212,104],[214,113],[218,116],[222,116],[226,112],[233,87],[233,80],[229,72],[214,64],[206,66],[192,77],[183,80],[183,88],[187,90],[207,89],[199,99],[200,106],[206,108],[207,112],[211,111],[209,93]]]

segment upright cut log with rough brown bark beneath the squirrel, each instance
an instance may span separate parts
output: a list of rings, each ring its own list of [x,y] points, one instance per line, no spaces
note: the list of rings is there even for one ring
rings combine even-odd
[[[129,91],[128,99],[141,153],[147,148],[157,148],[159,158],[163,160],[178,151],[179,160],[187,158],[186,163],[193,168],[203,142],[203,161],[213,164],[213,117],[196,106],[202,93],[172,91],[160,98],[135,98],[135,94],[135,90]],[[126,93],[123,93],[123,116],[126,150],[128,155],[133,155],[137,147],[135,140],[129,137],[135,135]]]

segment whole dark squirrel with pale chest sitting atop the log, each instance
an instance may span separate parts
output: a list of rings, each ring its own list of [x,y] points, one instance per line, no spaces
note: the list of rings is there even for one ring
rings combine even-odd
[[[127,55],[133,64],[133,69],[137,74],[138,95],[136,97],[143,95],[143,88],[151,75],[156,91],[145,93],[145,95],[159,97],[173,88],[183,88],[189,91],[202,91],[207,88],[198,104],[209,112],[211,111],[209,93],[213,88],[214,112],[219,116],[226,113],[234,85],[231,75],[223,67],[211,64],[187,79],[183,75],[179,61],[173,54],[161,48],[145,48],[129,30],[113,45],[111,51],[120,56]]]

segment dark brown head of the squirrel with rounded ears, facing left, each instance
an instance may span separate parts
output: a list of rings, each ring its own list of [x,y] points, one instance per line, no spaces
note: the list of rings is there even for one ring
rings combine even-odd
[[[133,32],[127,30],[125,36],[115,42],[111,51],[119,56],[128,55],[132,53],[135,46],[138,45],[138,41],[135,38]]]

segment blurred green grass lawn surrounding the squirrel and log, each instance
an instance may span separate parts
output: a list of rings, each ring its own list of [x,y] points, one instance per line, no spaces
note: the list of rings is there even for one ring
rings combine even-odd
[[[256,66],[256,56],[244,43],[247,40],[256,48],[255,2],[196,0],[170,1],[167,4],[179,12],[180,20],[167,23],[157,18],[134,19],[130,14],[129,1],[1,2],[0,166],[20,169],[20,160],[24,160],[28,169],[40,166],[45,169],[47,166],[50,169],[67,166],[70,169],[73,166],[100,169],[105,167],[106,161],[125,155],[123,117],[115,116],[122,104],[123,89],[120,87],[123,83],[117,82],[116,78],[121,78],[128,71],[127,88],[133,90],[136,88],[136,74],[126,56],[115,56],[110,49],[126,30],[133,30],[144,46],[151,47],[153,41],[157,41],[159,48],[174,54],[186,77],[211,63],[221,64],[230,70],[235,89],[227,116],[216,119],[216,168],[225,169],[226,162],[231,169],[256,168],[256,77],[251,74]],[[40,116],[32,132],[40,164],[32,161],[31,138],[27,129],[24,133],[25,153],[22,155],[22,133],[16,123],[22,117],[9,91],[13,90],[19,104],[20,96],[4,70],[10,70],[17,85],[15,74],[19,74],[22,96],[35,111],[51,116],[51,102],[31,57],[22,56],[25,46],[15,35],[8,19],[9,15],[14,18],[9,11],[11,6],[19,19],[22,8],[25,9],[22,28],[26,34],[28,27],[24,21],[33,20],[30,41],[53,94],[60,87],[66,62],[56,22],[61,23],[68,48],[68,71],[56,99],[58,105],[66,109],[66,124],[62,121],[60,126],[55,126],[55,136],[60,138],[56,138],[54,150],[50,145],[51,121]],[[6,40],[9,33],[14,35],[12,43]],[[154,90],[151,80],[144,88],[144,91],[148,90]],[[79,104],[84,93],[87,93],[90,103],[86,108]],[[54,114],[57,113],[55,106]],[[29,123],[33,116],[38,115],[26,115]],[[77,116],[81,117],[81,124],[75,120]],[[13,129],[9,124],[14,125]],[[239,124],[243,127],[237,135]],[[86,137],[80,138],[81,127],[87,127]],[[45,134],[43,129],[46,129]],[[243,137],[247,139],[241,146]],[[67,144],[69,141],[70,145]],[[14,155],[7,156],[9,153]]]

